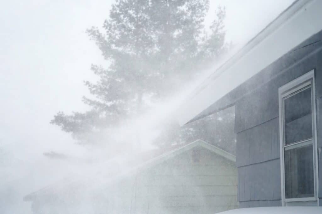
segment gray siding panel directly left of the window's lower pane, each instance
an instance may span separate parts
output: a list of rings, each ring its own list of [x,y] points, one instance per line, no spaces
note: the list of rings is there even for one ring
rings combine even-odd
[[[279,159],[238,168],[239,201],[280,200]]]

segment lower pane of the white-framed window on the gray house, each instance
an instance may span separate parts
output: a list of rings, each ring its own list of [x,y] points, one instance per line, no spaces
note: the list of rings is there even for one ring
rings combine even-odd
[[[286,198],[314,197],[312,141],[295,149],[285,148]]]

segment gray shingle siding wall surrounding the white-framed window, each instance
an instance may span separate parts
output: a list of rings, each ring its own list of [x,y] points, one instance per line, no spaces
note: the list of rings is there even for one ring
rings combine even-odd
[[[321,32],[300,47],[320,38]],[[316,78],[317,143],[320,150],[322,148],[321,43],[295,49],[260,72],[261,77],[255,76],[241,86],[246,93],[235,102],[236,164],[241,208],[281,205],[278,88],[312,69],[315,69]],[[257,84],[254,81],[258,81]],[[322,198],[321,155],[318,161],[318,195]]]

